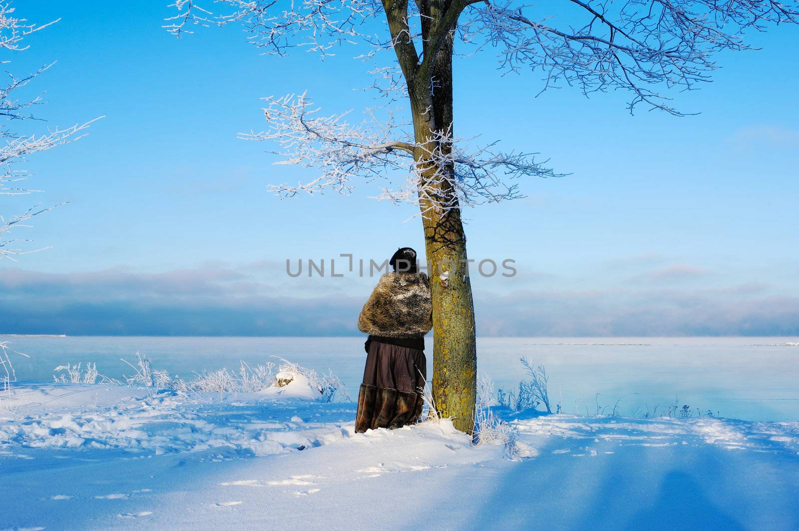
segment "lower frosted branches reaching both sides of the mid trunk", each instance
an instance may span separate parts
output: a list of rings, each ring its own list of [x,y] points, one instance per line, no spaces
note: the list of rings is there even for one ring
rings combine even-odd
[[[407,126],[388,117],[368,114],[361,125],[352,125],[350,113],[324,116],[307,94],[266,98],[264,117],[269,129],[240,135],[246,140],[271,141],[280,149],[272,151],[281,160],[276,164],[296,164],[319,172],[312,180],[296,185],[271,185],[282,197],[300,192],[322,193],[326,189],[349,193],[358,179],[392,180],[404,174],[400,186],[385,186],[379,199],[396,203],[419,204],[446,211],[459,202],[480,204],[521,197],[518,184],[506,178],[555,176],[551,169],[535,162],[535,153],[502,153],[495,145],[461,149],[470,145],[451,134],[439,133],[424,143],[415,144]],[[400,140],[392,135],[403,133]],[[448,149],[456,145],[458,149]],[[427,168],[442,168],[432,175]],[[448,172],[444,168],[455,168]],[[445,192],[451,191],[451,192]]]

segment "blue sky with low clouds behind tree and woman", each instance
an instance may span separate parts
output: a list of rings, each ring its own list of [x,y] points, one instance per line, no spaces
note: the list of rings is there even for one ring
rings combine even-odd
[[[36,22],[6,69],[58,61],[35,89],[51,124],[105,116],[30,161],[46,204],[26,236],[45,252],[0,262],[0,332],[348,335],[374,279],[291,279],[284,260],[383,260],[422,247],[415,212],[352,196],[279,200],[272,165],[237,140],[260,97],[308,93],[326,111],[369,105],[354,52],[262,56],[236,28],[176,39],[166,2],[25,2]],[[625,93],[536,97],[539,74],[455,65],[463,137],[535,151],[570,175],[527,180],[523,200],[468,210],[471,257],[516,260],[473,281],[485,335],[799,335],[799,29],[755,34],[714,82],[674,93],[698,116],[626,111]],[[38,125],[38,124],[37,124]],[[3,206],[3,213],[24,202]],[[8,202],[10,204],[10,202]]]

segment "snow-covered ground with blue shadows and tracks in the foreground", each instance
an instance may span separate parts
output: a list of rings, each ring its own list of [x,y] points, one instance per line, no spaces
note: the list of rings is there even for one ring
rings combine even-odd
[[[496,410],[353,433],[355,405],[25,384],[0,406],[0,529],[799,529],[799,422]]]

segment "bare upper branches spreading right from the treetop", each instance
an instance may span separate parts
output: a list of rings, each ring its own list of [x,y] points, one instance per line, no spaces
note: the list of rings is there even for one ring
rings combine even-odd
[[[748,50],[745,30],[797,22],[795,0],[569,0],[571,9],[547,11],[514,0],[486,2],[468,10],[464,40],[500,50],[513,71],[540,70],[547,87],[564,81],[586,95],[607,89],[633,94],[639,103],[682,114],[658,92],[693,89],[717,69],[722,50]]]

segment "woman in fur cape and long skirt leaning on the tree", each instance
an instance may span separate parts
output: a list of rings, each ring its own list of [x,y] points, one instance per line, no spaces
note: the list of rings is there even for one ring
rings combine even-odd
[[[364,383],[358,394],[355,430],[399,428],[422,414],[427,359],[424,335],[433,327],[430,279],[417,272],[416,252],[404,247],[389,260],[358,317],[368,334]]]

